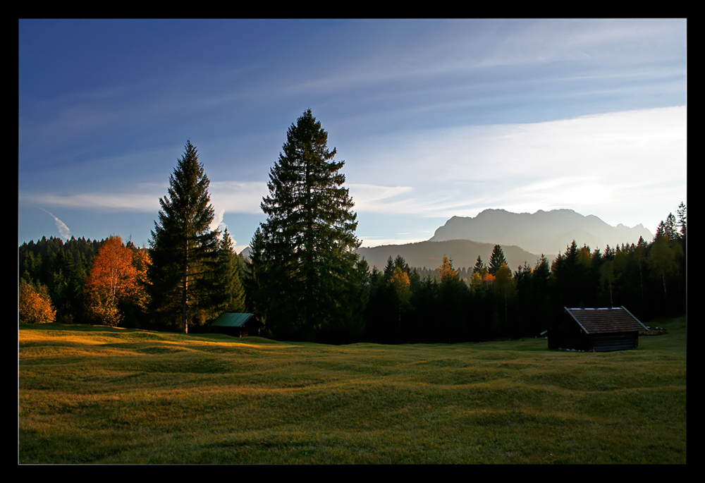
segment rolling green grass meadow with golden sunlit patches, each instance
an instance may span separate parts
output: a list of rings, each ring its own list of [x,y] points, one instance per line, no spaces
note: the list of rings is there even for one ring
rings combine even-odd
[[[685,318],[657,324],[614,353],[20,325],[18,460],[686,463]]]

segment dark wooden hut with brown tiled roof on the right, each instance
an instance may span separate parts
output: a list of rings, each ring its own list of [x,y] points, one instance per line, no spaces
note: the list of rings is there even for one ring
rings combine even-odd
[[[648,331],[625,307],[616,309],[569,309],[548,330],[548,348],[565,350],[636,349],[639,331]]]

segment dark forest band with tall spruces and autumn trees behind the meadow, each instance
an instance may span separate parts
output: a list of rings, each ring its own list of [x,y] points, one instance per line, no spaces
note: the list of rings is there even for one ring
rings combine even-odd
[[[355,250],[357,216],[327,133],[306,111],[271,168],[267,219],[252,256],[212,231],[209,179],[190,140],[159,202],[149,247],[118,236],[46,238],[18,250],[21,323],[206,331],[223,312],[254,312],[262,336],[322,343],[457,343],[539,336],[563,307],[619,307],[648,322],[686,312],[685,203],[654,239],[578,246],[516,269],[502,248],[474,267],[434,270]]]

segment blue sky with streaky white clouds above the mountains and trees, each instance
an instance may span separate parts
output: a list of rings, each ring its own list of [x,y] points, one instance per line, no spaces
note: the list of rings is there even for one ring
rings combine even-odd
[[[148,245],[190,140],[240,251],[307,109],[345,161],[362,246],[489,208],[655,233],[687,203],[684,19],[19,20],[18,34],[19,244]]]

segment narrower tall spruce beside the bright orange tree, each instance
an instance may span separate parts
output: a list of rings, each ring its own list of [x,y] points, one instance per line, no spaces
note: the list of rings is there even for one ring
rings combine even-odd
[[[159,198],[159,221],[149,240],[152,265],[149,286],[152,313],[162,322],[204,322],[214,315],[214,269],[218,260],[217,231],[211,231],[214,210],[209,179],[198,152],[188,140],[183,157],[169,178],[168,195]]]

